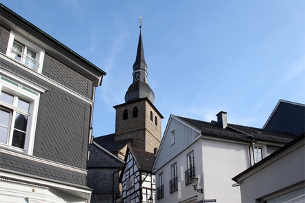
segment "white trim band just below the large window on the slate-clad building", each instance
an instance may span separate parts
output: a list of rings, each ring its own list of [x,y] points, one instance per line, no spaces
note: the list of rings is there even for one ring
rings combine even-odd
[[[8,147],[8,146],[6,146],[6,147]],[[69,171],[75,171],[77,173],[83,173],[83,174],[88,173],[88,170],[86,170],[86,169],[79,169],[77,167],[72,167],[72,166],[69,166],[69,165],[66,165],[66,164],[59,164],[58,162],[54,162],[54,161],[51,161],[51,160],[46,160],[46,159],[43,159],[43,158],[37,158],[36,156],[28,156],[28,155],[23,154],[23,153],[8,150],[8,149],[6,149],[6,147],[3,147],[2,145],[0,145],[0,153],[8,153],[12,156],[17,156],[19,158],[32,160],[32,161],[35,161],[35,162],[39,162],[41,164],[48,164],[52,167],[58,167],[58,168],[66,169],[66,170],[69,170]]]

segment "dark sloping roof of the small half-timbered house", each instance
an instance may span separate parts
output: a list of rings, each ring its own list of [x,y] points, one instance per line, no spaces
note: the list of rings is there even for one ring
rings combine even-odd
[[[137,163],[137,167],[141,171],[153,171],[153,164],[155,162],[155,153],[150,153],[147,151],[141,151],[135,148],[130,149],[135,162]]]

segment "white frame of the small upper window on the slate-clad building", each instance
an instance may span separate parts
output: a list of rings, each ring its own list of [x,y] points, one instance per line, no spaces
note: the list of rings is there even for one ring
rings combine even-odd
[[[25,64],[24,57],[23,57],[23,59],[21,58],[21,61],[18,61],[14,58],[12,58],[12,59],[14,61],[18,61],[19,63],[25,65],[28,69],[34,70],[35,72],[38,72],[39,74],[41,74],[42,66],[43,66],[43,58],[44,58],[44,54],[45,54],[44,50],[42,50],[37,45],[34,45],[33,43],[30,43],[30,41],[24,39],[22,36],[19,36],[15,32],[11,31],[10,32],[10,39],[8,40],[8,48],[6,50],[6,56],[8,56],[10,58],[11,58],[12,46],[14,44],[14,41],[17,41],[18,43],[21,43],[25,48],[28,47],[28,48],[30,48],[30,50],[36,52],[35,61],[38,63],[38,65],[37,65],[37,67],[32,69],[31,67],[28,67],[28,65]]]

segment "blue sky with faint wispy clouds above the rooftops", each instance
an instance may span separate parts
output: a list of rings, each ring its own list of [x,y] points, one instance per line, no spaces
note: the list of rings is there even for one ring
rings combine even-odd
[[[263,127],[279,99],[305,103],[305,1],[0,0],[107,72],[93,135],[115,132],[142,39],[155,107]]]

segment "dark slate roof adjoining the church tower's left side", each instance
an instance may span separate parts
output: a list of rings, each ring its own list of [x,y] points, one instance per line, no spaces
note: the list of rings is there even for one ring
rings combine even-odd
[[[94,141],[97,142],[99,146],[107,149],[110,152],[115,152],[123,149],[128,144],[128,142],[131,142],[131,140],[132,138],[126,140],[118,140],[115,142],[115,133],[94,138]]]

